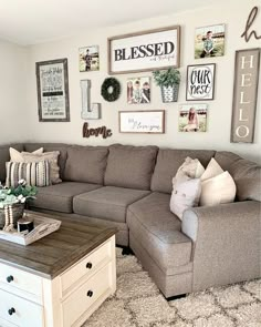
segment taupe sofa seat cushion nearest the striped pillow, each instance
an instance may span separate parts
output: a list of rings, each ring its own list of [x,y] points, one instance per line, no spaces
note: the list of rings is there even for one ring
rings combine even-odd
[[[100,188],[101,185],[63,182],[61,184],[39,187],[36,200],[31,203],[32,207],[46,208],[62,213],[73,212],[73,197],[81,193],[85,193]]]

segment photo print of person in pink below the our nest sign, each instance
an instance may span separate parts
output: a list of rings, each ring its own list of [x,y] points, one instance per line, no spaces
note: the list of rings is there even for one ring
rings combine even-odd
[[[207,132],[208,105],[202,103],[180,104],[178,131]]]

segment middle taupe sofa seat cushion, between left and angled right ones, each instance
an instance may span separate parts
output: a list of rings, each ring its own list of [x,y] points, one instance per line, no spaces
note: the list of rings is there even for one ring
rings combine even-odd
[[[125,223],[127,206],[149,193],[149,191],[104,186],[75,196],[73,211],[80,215]]]

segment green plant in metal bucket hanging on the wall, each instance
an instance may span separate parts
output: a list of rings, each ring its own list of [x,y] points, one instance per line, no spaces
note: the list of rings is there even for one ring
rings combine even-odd
[[[177,69],[169,68],[164,71],[154,71],[154,80],[161,89],[163,102],[177,102],[180,84],[180,72]]]

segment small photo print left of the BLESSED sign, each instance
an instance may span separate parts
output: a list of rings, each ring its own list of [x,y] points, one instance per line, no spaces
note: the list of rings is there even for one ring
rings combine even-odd
[[[100,70],[98,45],[83,47],[79,49],[79,68],[80,72]]]

